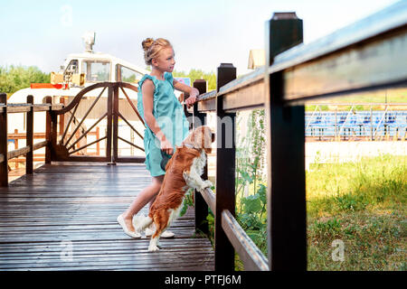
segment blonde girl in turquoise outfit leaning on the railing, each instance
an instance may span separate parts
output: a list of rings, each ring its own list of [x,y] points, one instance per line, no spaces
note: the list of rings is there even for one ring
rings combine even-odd
[[[133,227],[133,216],[141,210],[147,202],[150,205],[164,180],[165,171],[161,163],[168,154],[173,154],[175,145],[180,145],[188,135],[189,123],[174,89],[189,93],[185,104],[191,107],[199,95],[198,89],[191,88],[173,79],[172,71],[175,65],[175,54],[170,42],[158,38],[147,38],[142,42],[144,58],[152,71],[138,82],[137,109],[146,124],[144,148],[146,152],[146,167],[150,172],[152,183],[140,191],[128,210],[118,216],[118,223],[126,234],[132,238],[140,238],[140,234]],[[166,155],[167,154],[167,155]],[[146,235],[152,233],[146,230]],[[174,237],[174,233],[166,231],[163,238]]]

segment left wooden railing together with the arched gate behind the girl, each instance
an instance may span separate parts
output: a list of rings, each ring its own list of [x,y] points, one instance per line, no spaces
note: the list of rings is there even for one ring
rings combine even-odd
[[[95,91],[99,94],[97,98],[87,95],[87,93],[95,93]],[[107,98],[102,98],[104,91],[107,91]],[[119,99],[119,92],[124,96],[123,98]],[[129,97],[130,92],[137,93],[137,87],[125,82],[100,82],[80,90],[75,98],[66,105],[63,98],[60,98],[61,103],[52,104],[52,97],[45,98],[46,104],[33,104],[33,96],[27,97],[27,104],[7,104],[5,93],[0,94],[0,186],[8,186],[8,160],[24,155],[26,173],[33,173],[33,151],[42,147],[46,148],[45,163],[58,161],[105,162],[109,164],[143,163],[146,160],[143,156],[118,155],[118,140],[140,151],[144,151],[142,147],[133,144],[124,138],[123,135],[120,136],[118,132],[118,120],[121,119],[143,140],[142,132],[138,132],[137,129],[131,125],[128,118],[125,117],[126,111],[119,110],[119,106],[124,107],[128,105],[131,107],[130,112],[134,114],[132,117],[137,118],[143,128],[145,127],[133,103],[134,99],[132,100]],[[90,120],[92,120],[93,124],[89,128],[86,128],[84,121],[90,113],[92,113],[92,109],[98,102],[99,104],[101,103],[104,110],[101,112],[101,116],[97,117],[96,120],[95,118],[91,118]],[[80,107],[82,103],[84,103],[84,107],[87,111],[83,116],[78,117],[78,107]],[[34,112],[47,112],[44,125],[46,127],[43,127],[46,140],[37,144],[33,144]],[[22,134],[8,134],[7,132],[7,115],[14,113],[26,113],[26,133],[24,134],[26,145],[8,152],[7,140],[14,139],[15,141],[15,139],[22,137]],[[102,120],[105,120],[107,123],[107,132],[100,137],[99,126],[97,125]],[[91,131],[93,128],[95,128],[96,131]],[[36,129],[38,130],[39,127],[36,127]],[[89,135],[96,136],[96,140],[88,142],[86,137]],[[82,140],[85,140],[85,144],[80,144]],[[106,140],[107,143],[105,155],[99,155],[99,143],[103,140]],[[92,144],[96,145],[96,154],[86,152],[86,149]],[[18,160],[18,162],[21,161],[22,160]]]

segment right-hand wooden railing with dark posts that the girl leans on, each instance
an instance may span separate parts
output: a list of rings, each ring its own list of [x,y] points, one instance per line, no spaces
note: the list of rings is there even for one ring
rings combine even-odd
[[[306,270],[305,109],[308,99],[407,86],[407,2],[349,25],[308,45],[295,13],[273,15],[266,25],[266,67],[236,79],[232,64],[217,69],[217,88],[201,95],[194,117],[204,124],[216,112],[216,193],[195,192],[196,228],[207,232],[214,214],[215,270],[234,270],[234,250],[246,270]],[[241,229],[235,212],[234,117],[241,109],[264,108],[267,121],[268,260]],[[233,126],[225,147],[222,119]],[[207,175],[204,175],[204,177]]]

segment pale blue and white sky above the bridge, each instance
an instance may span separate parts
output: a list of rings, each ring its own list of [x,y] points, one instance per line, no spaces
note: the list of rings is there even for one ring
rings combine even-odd
[[[406,0],[402,0],[406,1]],[[69,53],[84,51],[81,36],[96,33],[94,51],[141,68],[141,42],[163,37],[175,50],[175,70],[216,71],[230,62],[248,70],[251,49],[264,48],[265,23],[275,12],[296,12],[304,42],[392,5],[395,0],[0,0],[0,66],[58,71]]]

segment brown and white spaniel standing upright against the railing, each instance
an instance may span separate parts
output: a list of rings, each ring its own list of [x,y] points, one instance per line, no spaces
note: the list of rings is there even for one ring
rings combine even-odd
[[[156,200],[150,207],[148,217],[137,219],[137,232],[151,223],[156,225],[148,247],[149,252],[159,250],[158,239],[175,220],[183,207],[185,192],[189,188],[203,191],[211,187],[210,181],[201,179],[206,163],[206,154],[211,153],[214,135],[208,126],[199,126],[176,147],[175,154],[166,164],[166,175]]]

